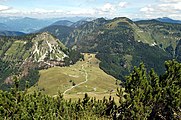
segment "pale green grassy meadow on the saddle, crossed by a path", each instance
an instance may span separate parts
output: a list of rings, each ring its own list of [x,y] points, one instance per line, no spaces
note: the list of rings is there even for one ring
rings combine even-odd
[[[56,95],[58,90],[64,92],[72,87],[72,82],[79,84],[85,81],[85,71],[88,74],[88,82],[76,86],[64,94],[65,98],[82,98],[85,93],[91,97],[102,99],[104,96],[116,96],[117,85],[114,77],[107,75],[99,68],[99,61],[95,54],[85,54],[85,61],[79,61],[70,67],[54,67],[40,71],[38,83],[29,89],[30,92],[44,88],[43,93]],[[82,65],[84,69],[82,69]],[[85,71],[84,71],[85,70]],[[112,91],[112,92],[110,92]]]

